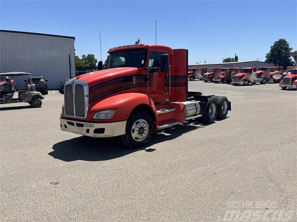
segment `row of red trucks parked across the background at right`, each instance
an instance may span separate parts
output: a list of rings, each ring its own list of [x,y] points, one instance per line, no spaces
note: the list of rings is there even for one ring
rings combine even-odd
[[[267,82],[279,83],[286,75],[290,75],[294,67],[287,67],[283,73],[283,67],[235,67],[235,68],[190,68],[188,70],[189,80],[198,78],[205,82],[211,81],[214,83],[233,83],[249,85],[249,83],[265,84]],[[294,71],[293,71],[294,72]],[[294,79],[294,78],[293,78]],[[292,79],[292,80],[293,80]],[[284,87],[282,87],[284,89]],[[286,87],[289,88],[289,87]],[[292,88],[292,87],[290,87]],[[294,88],[294,85],[293,85]]]

